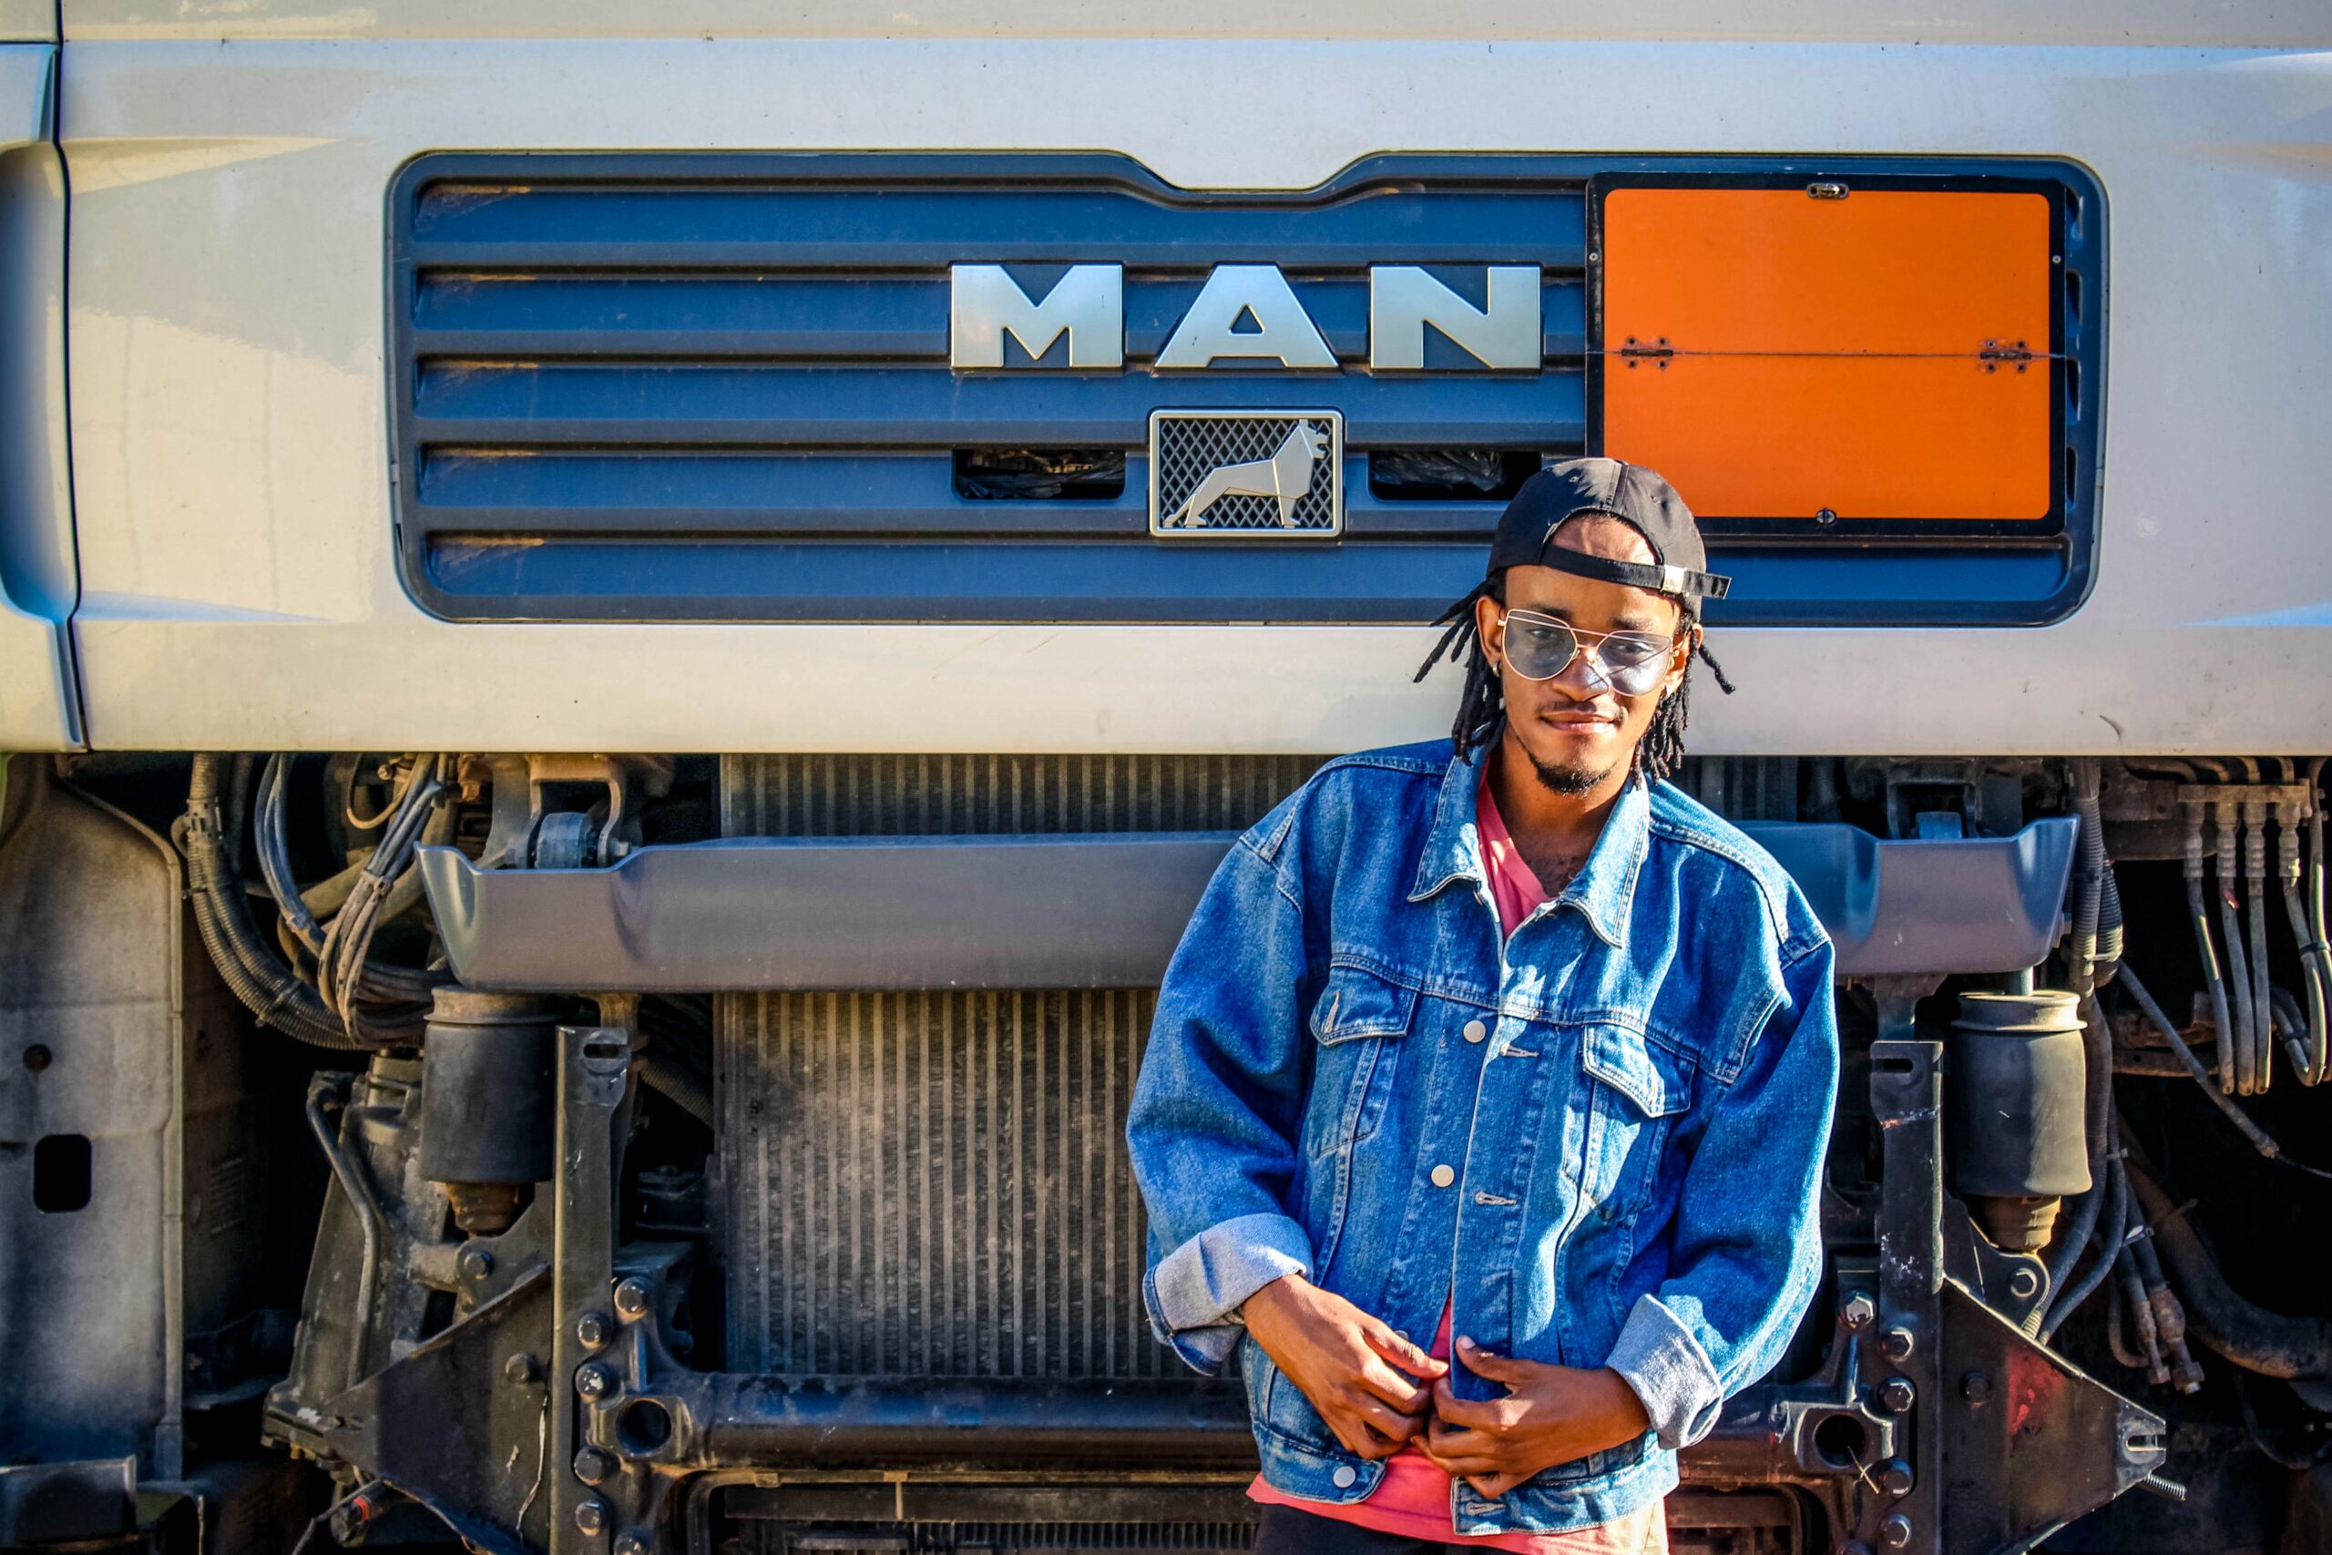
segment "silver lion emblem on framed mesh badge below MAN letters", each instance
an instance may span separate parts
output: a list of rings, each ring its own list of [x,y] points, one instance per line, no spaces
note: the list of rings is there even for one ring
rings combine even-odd
[[[1287,539],[1341,532],[1341,413],[1150,413],[1150,534]]]

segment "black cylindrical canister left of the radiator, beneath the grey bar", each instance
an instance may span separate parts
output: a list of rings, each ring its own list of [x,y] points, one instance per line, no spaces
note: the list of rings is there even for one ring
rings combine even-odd
[[[532,993],[438,988],[422,1035],[422,1177],[443,1182],[455,1219],[501,1229],[518,1189],[555,1163],[557,1019]],[[476,1191],[492,1184],[497,1191]],[[476,1222],[476,1224],[473,1224]]]

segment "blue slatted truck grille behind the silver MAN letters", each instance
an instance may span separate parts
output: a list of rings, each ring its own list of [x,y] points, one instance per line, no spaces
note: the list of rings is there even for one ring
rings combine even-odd
[[[1224,196],[1119,156],[424,156],[389,198],[406,583],[455,620],[1425,620],[1478,578],[1499,499],[1371,471],[1590,443],[1600,170],[1618,163],[1383,156]],[[1122,263],[1124,366],[951,371],[954,263],[1010,266],[1031,296]],[[1157,371],[1222,263],[1278,266],[1339,366]],[[1539,366],[1483,371],[1427,331],[1425,371],[1371,373],[1374,263],[1460,291],[1537,266]],[[1341,410],[1343,539],[1152,536],[1161,408]],[[1103,455],[1110,483],[963,487],[963,457],[1007,450]],[[2087,562],[1866,543],[1721,564],[1730,622],[2015,622],[2078,597]]]

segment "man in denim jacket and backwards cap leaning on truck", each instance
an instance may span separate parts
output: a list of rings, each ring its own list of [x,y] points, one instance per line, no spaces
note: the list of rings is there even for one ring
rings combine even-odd
[[[1812,1296],[1831,944],[1663,781],[1705,567],[1646,469],[1527,480],[1425,662],[1455,739],[1322,767],[1175,951],[1143,1294],[1241,1350],[1262,1555],[1665,1550],[1677,1448]]]

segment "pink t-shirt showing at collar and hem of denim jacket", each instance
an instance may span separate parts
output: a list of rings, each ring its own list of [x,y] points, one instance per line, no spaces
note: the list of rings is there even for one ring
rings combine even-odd
[[[1474,800],[1474,830],[1481,837],[1481,858],[1490,872],[1490,902],[1497,905],[1497,923],[1506,937],[1520,928],[1523,919],[1551,893],[1539,886],[1523,851],[1513,846],[1506,821],[1497,814],[1488,779]],[[1427,1355],[1446,1361],[1451,1355],[1451,1303],[1441,1303],[1441,1327]],[[1339,1506],[1334,1501],[1306,1501],[1280,1494],[1262,1476],[1248,1485],[1248,1499],[1264,1506],[1297,1506],[1320,1518],[1374,1527],[1404,1539],[1432,1543],[1476,1543],[1485,1550],[1523,1550],[1525,1555],[1667,1555],[1667,1518],[1658,1501],[1597,1527],[1581,1527],[1569,1534],[1460,1534],[1451,1518],[1451,1476],[1432,1466],[1416,1448],[1402,1448],[1385,1459],[1385,1478],[1369,1492],[1367,1501]]]

